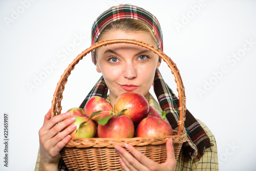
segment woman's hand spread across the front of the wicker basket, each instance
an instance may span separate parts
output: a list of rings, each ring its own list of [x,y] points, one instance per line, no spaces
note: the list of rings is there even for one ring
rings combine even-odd
[[[124,170],[175,170],[176,159],[172,138],[168,139],[166,142],[167,158],[166,161],[161,164],[147,158],[129,144],[125,144],[125,148],[130,151],[135,158],[121,146],[115,146],[115,148],[121,157],[119,161]]]

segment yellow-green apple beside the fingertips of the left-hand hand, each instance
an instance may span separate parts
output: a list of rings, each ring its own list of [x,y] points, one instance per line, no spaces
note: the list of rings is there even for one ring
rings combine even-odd
[[[96,134],[95,122],[91,119],[88,121],[88,117],[75,116],[75,118],[76,120],[74,124],[76,124],[76,130],[70,134],[71,138],[93,138]],[[85,121],[88,122],[86,122],[84,125],[82,125],[82,127],[79,128],[79,125]]]

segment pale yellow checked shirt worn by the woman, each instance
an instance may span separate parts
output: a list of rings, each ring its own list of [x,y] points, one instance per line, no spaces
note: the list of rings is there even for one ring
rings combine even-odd
[[[109,100],[107,98],[107,100]],[[154,99],[152,95],[150,95],[149,104],[159,113],[162,114],[162,109],[158,102]],[[182,155],[182,149],[180,152],[180,155],[177,160],[176,165],[176,171],[188,171],[188,170],[219,170],[218,165],[218,153],[217,153],[217,144],[214,135],[211,133],[211,131],[208,129],[208,127],[198,120],[200,125],[203,127],[204,131],[210,138],[210,142],[214,144],[214,146],[211,146],[210,148],[206,149],[204,151],[204,154],[200,157],[197,157],[195,159],[191,159],[188,157],[184,157]],[[39,160],[40,160],[40,154],[38,152],[38,157],[36,161],[35,171],[39,170]],[[63,160],[60,160],[59,162],[59,170],[60,171],[66,171],[68,168],[66,167]]]

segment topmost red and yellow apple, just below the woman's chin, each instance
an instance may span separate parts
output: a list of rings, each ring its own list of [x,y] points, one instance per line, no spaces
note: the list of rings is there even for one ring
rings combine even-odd
[[[147,116],[149,108],[143,95],[135,92],[125,92],[116,99],[114,112],[118,114],[126,109],[122,114],[129,116],[134,123],[139,123]]]

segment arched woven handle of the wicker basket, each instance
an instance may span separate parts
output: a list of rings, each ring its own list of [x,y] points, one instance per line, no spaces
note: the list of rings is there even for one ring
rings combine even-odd
[[[170,68],[172,71],[172,74],[175,77],[175,82],[177,83],[177,91],[178,91],[178,96],[179,96],[179,118],[180,120],[178,121],[178,135],[181,135],[185,132],[184,129],[184,121],[185,121],[185,112],[186,112],[186,105],[185,105],[185,91],[184,91],[184,86],[183,82],[179,73],[179,70],[176,66],[176,64],[173,62],[172,59],[170,59],[167,55],[165,55],[162,51],[159,49],[156,49],[152,45],[145,44],[142,41],[138,40],[131,40],[131,39],[115,39],[115,40],[106,40],[106,41],[98,41],[96,44],[92,45],[90,48],[84,50],[81,54],[79,54],[72,63],[70,63],[69,67],[65,70],[65,72],[62,74],[60,77],[60,80],[57,84],[56,90],[53,95],[53,100],[52,100],[52,108],[51,108],[51,117],[56,116],[61,114],[62,106],[61,106],[61,100],[63,98],[62,93],[65,89],[65,84],[68,81],[68,77],[71,74],[71,71],[74,70],[75,65],[88,53],[92,52],[93,50],[106,46],[106,45],[112,45],[112,44],[120,44],[120,43],[125,43],[125,44],[133,44],[133,45],[138,45],[141,47],[144,47],[148,50],[153,51],[156,53],[159,57],[163,59],[167,63],[167,66]]]

